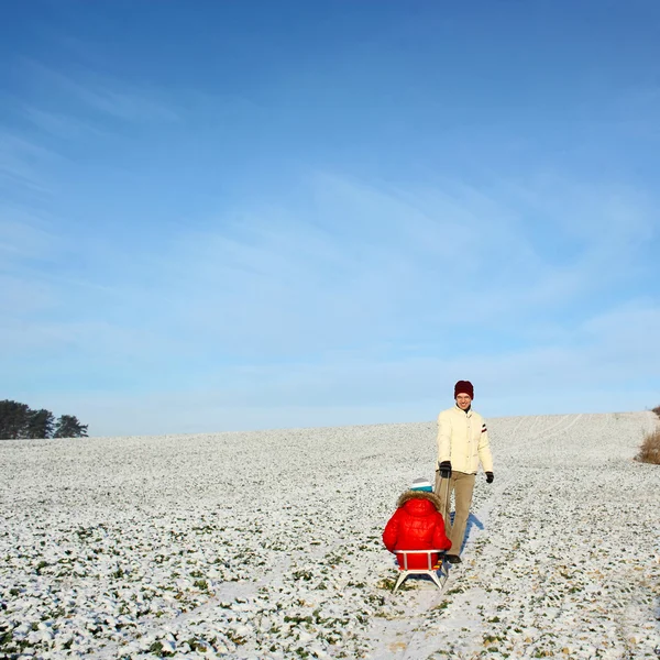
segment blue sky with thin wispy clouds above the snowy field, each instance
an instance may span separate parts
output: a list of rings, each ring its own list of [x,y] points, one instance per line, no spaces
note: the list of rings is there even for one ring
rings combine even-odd
[[[0,26],[0,398],[97,436],[660,403],[660,3]]]

